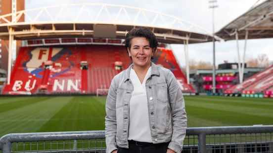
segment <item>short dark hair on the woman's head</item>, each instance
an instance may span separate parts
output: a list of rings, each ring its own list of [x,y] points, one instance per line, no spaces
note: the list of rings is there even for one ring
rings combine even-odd
[[[133,28],[126,34],[125,46],[131,48],[131,40],[136,37],[144,37],[149,41],[151,48],[157,48],[158,42],[154,33],[148,28]]]

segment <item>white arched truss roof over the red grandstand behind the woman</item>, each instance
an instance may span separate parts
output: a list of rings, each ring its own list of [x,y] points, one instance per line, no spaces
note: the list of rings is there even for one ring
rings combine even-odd
[[[75,11],[78,10],[78,11]],[[10,21],[13,18],[13,21]],[[24,20],[24,21],[23,21]],[[149,27],[163,43],[208,42],[212,34],[175,16],[123,5],[87,3],[49,6],[0,16],[0,38],[125,38],[134,27]],[[216,39],[220,39],[216,37]]]

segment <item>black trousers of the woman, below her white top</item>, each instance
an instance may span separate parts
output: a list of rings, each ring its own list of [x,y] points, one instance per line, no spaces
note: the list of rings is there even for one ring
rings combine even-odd
[[[167,153],[169,143],[139,145],[129,142],[129,149],[118,148],[118,153]]]

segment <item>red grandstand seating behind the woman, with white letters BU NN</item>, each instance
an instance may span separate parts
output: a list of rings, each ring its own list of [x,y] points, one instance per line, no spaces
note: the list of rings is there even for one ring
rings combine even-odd
[[[183,92],[195,92],[186,83],[172,50],[158,48],[153,62],[170,69]],[[131,59],[123,45],[21,47],[11,73],[11,83],[4,87],[3,94],[95,94],[108,89],[111,79],[130,64]]]

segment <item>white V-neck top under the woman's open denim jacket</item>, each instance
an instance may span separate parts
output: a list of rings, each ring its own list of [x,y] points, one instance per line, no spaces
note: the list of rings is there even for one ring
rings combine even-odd
[[[151,73],[151,67],[148,69],[142,84],[135,70],[131,69],[130,79],[134,86],[134,91],[130,100],[130,122],[128,140],[152,143],[150,132],[148,102],[145,83]]]

